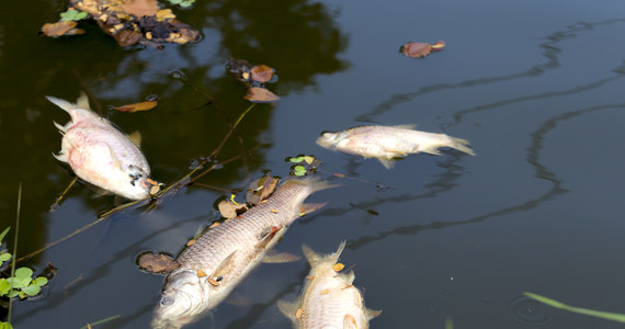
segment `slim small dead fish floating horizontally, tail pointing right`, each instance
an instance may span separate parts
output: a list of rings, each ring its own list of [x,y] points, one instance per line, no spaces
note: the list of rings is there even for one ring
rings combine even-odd
[[[393,168],[394,159],[410,154],[427,152],[440,156],[440,147],[455,148],[475,156],[466,139],[445,134],[434,134],[413,129],[416,125],[359,126],[339,133],[322,133],[317,144],[327,149],[377,158],[387,169]]]

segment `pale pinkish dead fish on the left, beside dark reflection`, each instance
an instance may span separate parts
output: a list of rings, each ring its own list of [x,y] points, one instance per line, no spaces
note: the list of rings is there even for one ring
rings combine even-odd
[[[91,111],[81,93],[76,104],[46,97],[65,110],[71,121],[54,123],[63,135],[61,149],[55,158],[69,163],[80,179],[126,198],[140,200],[158,192],[149,179],[150,167],[138,143],[115,128],[106,118]]]

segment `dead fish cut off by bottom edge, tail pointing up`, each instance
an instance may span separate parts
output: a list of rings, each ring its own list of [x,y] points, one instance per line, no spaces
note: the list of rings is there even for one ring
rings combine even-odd
[[[318,254],[304,246],[304,254],[310,263],[310,273],[302,296],[295,303],[280,300],[280,310],[293,321],[294,328],[300,329],[366,329],[368,320],[382,310],[372,310],[364,306],[360,291],[352,285],[354,272],[337,273],[334,266],[345,248],[341,242],[334,253]]]

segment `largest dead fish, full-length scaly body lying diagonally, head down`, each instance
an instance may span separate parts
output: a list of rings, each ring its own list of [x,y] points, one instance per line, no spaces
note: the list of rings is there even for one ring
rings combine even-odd
[[[266,202],[205,231],[182,251],[164,280],[151,327],[181,328],[217,306],[263,260],[288,226],[323,204],[304,204],[331,188],[316,178],[289,179]]]

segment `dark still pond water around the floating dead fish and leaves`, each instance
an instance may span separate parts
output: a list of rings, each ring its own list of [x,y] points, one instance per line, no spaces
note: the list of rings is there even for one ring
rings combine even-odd
[[[18,254],[114,206],[78,185],[48,212],[72,175],[50,155],[60,149],[52,123],[68,116],[44,95],[73,100],[88,90],[94,109],[140,131],[154,177],[171,183],[249,105],[226,73],[232,56],[275,68],[269,88],[282,100],[255,106],[219,159],[261,144],[253,156],[201,182],[241,189],[264,170],[286,175],[286,157],[310,154],[325,172],[393,186],[341,180],[310,197],[329,204],[277,247],[329,252],[346,239],[341,261],[367,306],[384,310],[372,328],[444,328],[446,318],[456,328],[621,327],[522,296],[625,309],[621,1],[201,2],[175,12],[203,41],[162,50],[120,49],[93,25],[83,36],[45,38],[36,31],[65,2],[20,4],[7,3],[0,21],[0,224],[14,228],[22,182]],[[424,59],[398,53],[409,41],[439,39],[447,47]],[[152,111],[107,110],[149,95],[159,99]],[[220,111],[204,105],[206,95]],[[315,145],[322,131],[370,122],[466,138],[477,157],[418,155],[386,170]],[[137,270],[135,258],[177,254],[225,195],[192,186],[149,215],[118,213],[23,263],[58,270],[41,297],[15,304],[13,325],[80,328],[120,316],[100,328],[148,328],[162,276]],[[307,271],[304,261],[262,264],[235,291],[238,302],[188,328],[289,328],[275,302],[294,300]]]

